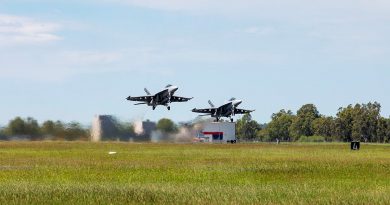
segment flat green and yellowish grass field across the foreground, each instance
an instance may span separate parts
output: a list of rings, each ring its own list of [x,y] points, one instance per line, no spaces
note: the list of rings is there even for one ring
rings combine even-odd
[[[348,148],[0,142],[0,204],[390,204],[390,146]]]

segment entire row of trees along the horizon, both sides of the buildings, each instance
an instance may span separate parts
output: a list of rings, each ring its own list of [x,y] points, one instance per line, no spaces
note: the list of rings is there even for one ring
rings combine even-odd
[[[353,140],[375,143],[390,142],[390,119],[380,115],[377,102],[348,105],[339,108],[335,117],[321,115],[313,104],[303,105],[296,113],[280,110],[272,114],[271,121],[259,124],[251,115],[237,121],[236,134],[241,141],[301,141],[349,142]],[[196,124],[196,123],[195,123]],[[177,133],[180,127],[170,119],[161,119],[157,130]],[[119,136],[134,134],[132,123],[117,122]],[[0,128],[0,140],[89,140],[90,128],[78,122],[45,121],[39,124],[34,118],[16,117],[6,127]],[[113,138],[114,139],[114,138]],[[117,139],[117,137],[115,137]],[[126,138],[127,139],[127,138]]]

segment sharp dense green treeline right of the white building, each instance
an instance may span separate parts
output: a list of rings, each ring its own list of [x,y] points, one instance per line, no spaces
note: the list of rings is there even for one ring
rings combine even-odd
[[[380,111],[377,102],[356,104],[339,108],[336,117],[331,117],[321,115],[315,105],[307,104],[296,114],[280,110],[264,125],[245,115],[237,122],[237,136],[255,141],[390,142],[390,119],[382,117]]]

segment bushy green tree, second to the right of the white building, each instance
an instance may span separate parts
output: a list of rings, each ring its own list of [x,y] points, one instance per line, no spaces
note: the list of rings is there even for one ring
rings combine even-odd
[[[278,113],[272,114],[272,120],[266,128],[266,132],[270,140],[284,140],[290,141],[291,136],[289,128],[294,120],[295,116],[288,110],[280,110]]]

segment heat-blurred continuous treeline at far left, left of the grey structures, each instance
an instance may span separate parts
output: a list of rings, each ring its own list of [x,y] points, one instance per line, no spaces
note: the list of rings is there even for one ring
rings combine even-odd
[[[45,121],[39,124],[34,118],[16,117],[0,130],[1,140],[89,140],[90,129],[78,122]]]

